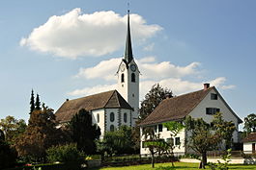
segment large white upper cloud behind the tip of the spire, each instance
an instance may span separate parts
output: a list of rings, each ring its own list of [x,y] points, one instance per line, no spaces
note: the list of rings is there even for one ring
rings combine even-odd
[[[147,25],[138,14],[130,14],[130,25],[134,40],[143,41],[162,29],[158,25]],[[127,15],[112,11],[83,14],[80,9],[73,9],[49,17],[28,37],[22,37],[20,45],[70,59],[102,56],[124,46],[126,31]]]

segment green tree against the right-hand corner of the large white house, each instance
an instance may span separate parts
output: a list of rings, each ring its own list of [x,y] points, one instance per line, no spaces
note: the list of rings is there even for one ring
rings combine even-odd
[[[232,121],[225,121],[222,118],[222,113],[217,112],[213,119],[213,129],[224,139],[226,149],[230,149],[232,145],[232,136],[236,130],[235,124]]]

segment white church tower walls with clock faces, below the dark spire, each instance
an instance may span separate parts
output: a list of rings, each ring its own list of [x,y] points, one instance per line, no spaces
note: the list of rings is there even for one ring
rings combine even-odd
[[[139,70],[134,60],[122,61],[118,71],[118,92],[128,102],[132,111],[131,126],[135,126],[139,111]]]

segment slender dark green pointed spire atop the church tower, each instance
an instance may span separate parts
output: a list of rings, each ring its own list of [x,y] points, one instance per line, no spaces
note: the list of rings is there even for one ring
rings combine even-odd
[[[128,33],[127,33],[125,60],[127,61],[127,63],[129,63],[130,61],[133,60],[132,48],[131,48],[130,29],[129,29],[129,10],[128,10]]]

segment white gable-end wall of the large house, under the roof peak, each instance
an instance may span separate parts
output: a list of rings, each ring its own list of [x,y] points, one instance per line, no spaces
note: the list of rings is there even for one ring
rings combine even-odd
[[[226,121],[232,121],[235,123],[237,130],[233,133],[233,141],[238,142],[239,132],[238,132],[238,118],[227,108],[220,96],[217,97],[217,100],[211,99],[211,93],[217,94],[217,92],[212,89],[207,96],[199,103],[199,105],[193,109],[189,115],[193,118],[203,118],[206,122],[210,123],[213,121],[213,115],[206,114],[206,108],[216,108],[220,109],[223,119]]]

